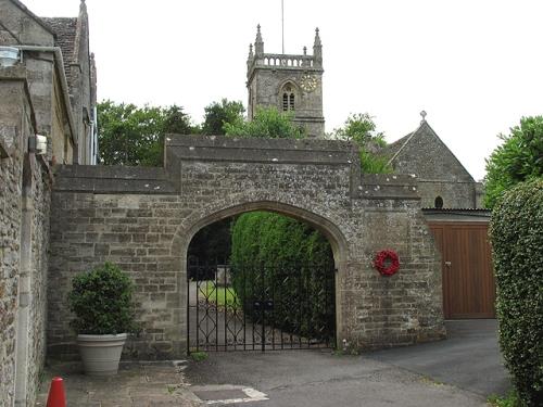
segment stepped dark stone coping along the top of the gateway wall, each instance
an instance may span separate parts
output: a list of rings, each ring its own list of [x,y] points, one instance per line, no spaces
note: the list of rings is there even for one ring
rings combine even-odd
[[[412,175],[361,176],[359,156],[351,142],[321,139],[237,139],[224,136],[166,136],[166,168],[64,165],[55,169],[55,191],[92,193],[181,192],[184,162],[231,162],[269,165],[350,167],[351,198],[420,200]]]

